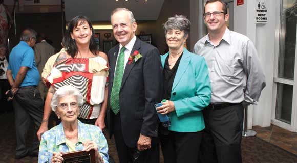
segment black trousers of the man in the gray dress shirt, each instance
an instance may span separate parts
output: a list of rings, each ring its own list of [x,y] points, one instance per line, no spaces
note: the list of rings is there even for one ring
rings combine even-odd
[[[203,110],[205,129],[200,148],[201,162],[242,162],[241,135],[243,107],[241,104],[218,110]]]

